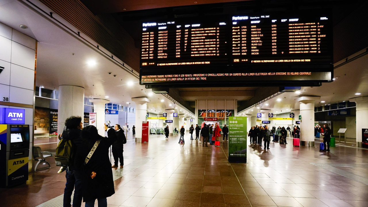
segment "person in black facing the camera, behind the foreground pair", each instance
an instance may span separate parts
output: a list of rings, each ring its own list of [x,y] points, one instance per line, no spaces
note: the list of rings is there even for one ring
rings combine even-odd
[[[124,141],[127,143],[127,140],[125,138],[124,130],[121,129],[120,124],[115,124],[114,130],[116,132],[116,141],[113,143],[112,151],[113,151],[113,157],[114,157],[114,165],[111,166],[112,168],[117,168],[118,166],[118,160],[120,159],[120,168],[123,168],[124,166]]]

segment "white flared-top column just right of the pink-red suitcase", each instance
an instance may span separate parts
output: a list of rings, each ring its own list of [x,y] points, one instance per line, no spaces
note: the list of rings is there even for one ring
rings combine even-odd
[[[300,145],[314,147],[314,102],[321,97],[300,97]],[[295,120],[294,120],[295,121]]]

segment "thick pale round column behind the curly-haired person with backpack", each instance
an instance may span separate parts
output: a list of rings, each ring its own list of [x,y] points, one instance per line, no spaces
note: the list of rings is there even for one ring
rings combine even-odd
[[[60,85],[57,109],[57,134],[63,133],[65,120],[70,116],[80,116],[83,122],[84,88],[74,85]]]

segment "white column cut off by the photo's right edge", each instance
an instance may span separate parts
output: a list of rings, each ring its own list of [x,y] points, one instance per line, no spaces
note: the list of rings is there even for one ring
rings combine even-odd
[[[357,147],[362,147],[362,129],[368,129],[368,97],[351,98],[349,101],[356,103]]]

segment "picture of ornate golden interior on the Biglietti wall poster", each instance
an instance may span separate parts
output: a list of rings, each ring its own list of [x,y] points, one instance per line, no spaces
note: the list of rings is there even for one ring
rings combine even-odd
[[[50,130],[50,109],[35,107],[35,134],[49,133]]]

